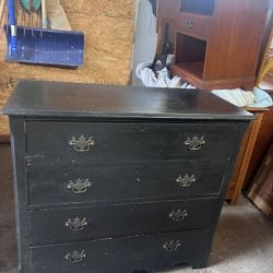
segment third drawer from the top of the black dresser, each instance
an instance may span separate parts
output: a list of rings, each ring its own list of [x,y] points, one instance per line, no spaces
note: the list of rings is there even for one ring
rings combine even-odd
[[[204,228],[217,199],[31,212],[32,245]]]

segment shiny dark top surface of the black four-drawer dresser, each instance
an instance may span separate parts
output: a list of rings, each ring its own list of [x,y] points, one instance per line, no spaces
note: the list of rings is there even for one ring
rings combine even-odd
[[[21,81],[3,114],[35,117],[249,120],[210,92]]]

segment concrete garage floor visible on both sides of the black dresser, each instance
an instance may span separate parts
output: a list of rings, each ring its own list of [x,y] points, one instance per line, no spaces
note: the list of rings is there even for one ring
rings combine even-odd
[[[9,145],[0,145],[0,273],[16,272],[16,240]],[[214,237],[210,268],[168,273],[273,273],[273,221],[241,198],[225,205]],[[167,273],[167,272],[165,272]]]

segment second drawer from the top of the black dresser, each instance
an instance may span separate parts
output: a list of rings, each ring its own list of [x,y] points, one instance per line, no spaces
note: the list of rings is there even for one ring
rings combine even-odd
[[[29,204],[84,204],[216,195],[225,163],[168,161],[119,166],[28,168]]]

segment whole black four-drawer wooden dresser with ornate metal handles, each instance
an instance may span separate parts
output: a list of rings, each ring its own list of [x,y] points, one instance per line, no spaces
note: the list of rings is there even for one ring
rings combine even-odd
[[[20,273],[206,266],[250,114],[201,91],[35,81],[4,114]]]

